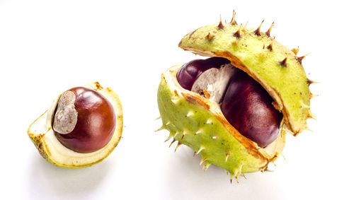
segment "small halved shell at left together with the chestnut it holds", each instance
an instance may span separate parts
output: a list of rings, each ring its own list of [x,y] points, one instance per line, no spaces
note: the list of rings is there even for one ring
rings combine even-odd
[[[98,82],[64,91],[28,128],[40,155],[59,167],[101,162],[122,137],[118,95]]]

